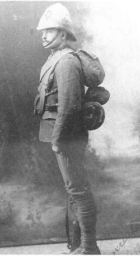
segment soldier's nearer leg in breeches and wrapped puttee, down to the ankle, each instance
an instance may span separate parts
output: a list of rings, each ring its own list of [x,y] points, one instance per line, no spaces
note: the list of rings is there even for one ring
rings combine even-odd
[[[76,204],[76,216],[81,230],[81,246],[96,246],[96,205],[83,167],[85,148],[81,144],[68,146],[65,154],[56,154],[63,180]]]

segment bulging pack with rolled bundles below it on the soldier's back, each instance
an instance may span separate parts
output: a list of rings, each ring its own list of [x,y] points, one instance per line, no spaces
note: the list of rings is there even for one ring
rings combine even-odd
[[[83,50],[72,54],[80,60],[83,84],[88,88],[82,105],[83,125],[89,131],[95,130],[104,123],[105,111],[102,105],[110,97],[109,91],[99,86],[105,77],[104,69],[95,55],[91,56]]]

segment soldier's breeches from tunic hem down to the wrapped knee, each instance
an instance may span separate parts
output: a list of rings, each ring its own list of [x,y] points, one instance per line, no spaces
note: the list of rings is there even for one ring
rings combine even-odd
[[[83,166],[87,137],[68,142],[63,146],[57,161],[67,192],[74,198],[90,190],[87,174]]]

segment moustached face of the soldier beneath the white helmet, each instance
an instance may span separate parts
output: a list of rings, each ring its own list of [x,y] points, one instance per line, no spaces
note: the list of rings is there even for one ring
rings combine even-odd
[[[59,47],[62,40],[57,29],[43,29],[42,33],[42,42],[45,48],[56,49]]]

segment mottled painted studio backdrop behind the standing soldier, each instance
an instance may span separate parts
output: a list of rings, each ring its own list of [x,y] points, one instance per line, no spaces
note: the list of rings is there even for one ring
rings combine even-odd
[[[55,3],[55,2],[53,2]],[[77,42],[97,55],[110,91],[105,122],[89,133],[85,168],[97,204],[97,239],[134,237],[140,228],[140,46],[138,1],[62,2]],[[51,148],[33,116],[49,52],[38,21],[48,2],[0,2],[0,244],[66,241],[67,195]],[[71,216],[70,216],[71,219]]]

